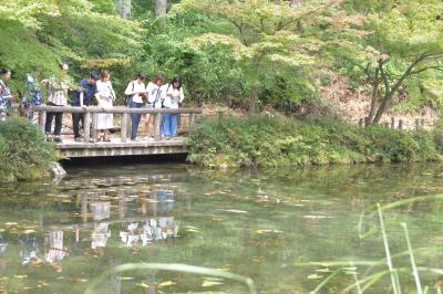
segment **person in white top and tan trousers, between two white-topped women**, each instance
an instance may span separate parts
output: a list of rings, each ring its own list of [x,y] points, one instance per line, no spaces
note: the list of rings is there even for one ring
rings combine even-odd
[[[147,103],[146,107],[147,108],[156,108],[159,109],[162,108],[162,103],[165,99],[166,95],[166,88],[164,86],[165,83],[165,77],[162,74],[157,74],[154,77],[154,82],[150,82],[146,86],[146,93],[147,93]],[[152,135],[152,129],[153,129],[153,124],[154,119],[151,114],[146,114],[146,120],[145,120],[145,130],[146,135],[150,137]]]

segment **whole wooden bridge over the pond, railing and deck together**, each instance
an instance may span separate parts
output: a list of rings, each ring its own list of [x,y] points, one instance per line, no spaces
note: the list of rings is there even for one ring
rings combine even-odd
[[[127,108],[124,106],[116,106],[113,108],[97,106],[84,108],[78,106],[35,106],[32,111],[38,113],[39,127],[43,132],[47,112],[84,114],[82,141],[75,141],[73,136],[64,136],[63,143],[56,144],[56,149],[66,158],[186,154],[184,136],[173,137],[171,139],[161,138],[162,114],[178,114],[177,129],[179,129],[182,134],[188,133],[195,123],[196,115],[202,114],[202,109],[198,108],[150,109]],[[115,137],[114,134],[111,141],[96,141],[97,130],[95,129],[95,123],[99,114],[114,114],[114,122],[116,123],[114,125],[116,125],[116,130],[120,132],[119,137]],[[131,114],[153,115],[153,138],[138,141],[131,141],[128,139],[131,135]],[[116,122],[116,119],[120,123]],[[91,140],[94,143],[91,143]]]

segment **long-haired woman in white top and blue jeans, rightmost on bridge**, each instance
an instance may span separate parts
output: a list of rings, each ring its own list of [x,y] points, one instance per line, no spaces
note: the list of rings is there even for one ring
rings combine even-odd
[[[185,99],[183,94],[182,81],[178,76],[166,86],[166,97],[163,108],[178,108],[178,104]],[[162,115],[162,137],[177,136],[177,114]]]

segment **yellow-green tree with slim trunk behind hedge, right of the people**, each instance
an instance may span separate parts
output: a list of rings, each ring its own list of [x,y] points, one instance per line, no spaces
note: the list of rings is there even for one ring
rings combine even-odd
[[[292,8],[285,1],[184,0],[173,12],[195,11],[225,22],[220,31],[188,38],[187,44],[230,46],[249,84],[249,111],[256,112],[259,86],[266,78],[281,71],[306,72],[315,63],[321,41],[302,34],[300,22],[317,25],[337,2],[305,1]]]

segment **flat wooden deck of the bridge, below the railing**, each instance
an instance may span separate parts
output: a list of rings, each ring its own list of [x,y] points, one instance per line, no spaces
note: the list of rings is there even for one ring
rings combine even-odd
[[[66,158],[186,154],[184,139],[184,137],[175,137],[122,143],[120,138],[111,138],[111,141],[78,143],[64,137],[63,143],[56,144],[56,149]]]

